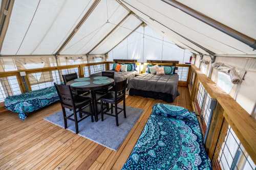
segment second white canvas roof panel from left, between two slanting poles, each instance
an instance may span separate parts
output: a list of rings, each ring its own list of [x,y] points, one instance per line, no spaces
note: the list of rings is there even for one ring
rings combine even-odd
[[[106,10],[106,2],[108,2],[108,10]],[[87,54],[127,14],[129,11],[116,1],[101,0],[60,54]]]

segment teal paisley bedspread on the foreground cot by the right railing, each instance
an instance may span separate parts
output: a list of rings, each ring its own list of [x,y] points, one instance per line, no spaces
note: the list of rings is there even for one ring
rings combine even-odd
[[[196,115],[156,104],[122,169],[212,169]]]

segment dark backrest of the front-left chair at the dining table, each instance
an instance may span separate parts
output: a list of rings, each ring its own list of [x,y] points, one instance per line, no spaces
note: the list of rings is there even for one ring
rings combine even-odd
[[[73,95],[70,89],[70,86],[67,85],[59,85],[54,83],[54,86],[58,92],[60,103],[69,105],[69,106],[74,106],[74,100],[73,100]]]

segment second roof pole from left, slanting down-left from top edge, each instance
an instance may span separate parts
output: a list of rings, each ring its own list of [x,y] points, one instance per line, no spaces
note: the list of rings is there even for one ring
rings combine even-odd
[[[55,55],[59,55],[59,53],[65,48],[65,46],[68,44],[68,42],[74,37],[74,35],[77,33],[77,31],[81,28],[83,23],[87,20],[87,18],[91,15],[91,13],[94,11],[94,9],[99,4],[100,0],[95,0],[94,3],[91,5],[91,7],[88,9],[86,14],[82,17],[82,19],[77,23],[76,27],[73,29],[71,34],[68,36],[68,38],[63,42],[63,44],[59,47],[59,50],[55,53]]]

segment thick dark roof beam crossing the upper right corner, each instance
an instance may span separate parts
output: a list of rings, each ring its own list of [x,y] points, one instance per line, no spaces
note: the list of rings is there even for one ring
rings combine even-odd
[[[175,0],[161,0],[162,2],[170,5],[170,6],[173,6],[183,12],[185,12],[186,14],[190,15],[190,16],[193,16],[197,19],[199,19],[200,21],[206,23],[207,25],[249,45],[250,47],[252,47],[254,50],[256,49],[256,40],[243,34],[243,33],[240,33],[226,25],[224,25],[223,23],[215,20],[215,19],[212,19],[192,8],[189,8],[188,6],[184,5],[184,4],[181,4]]]

